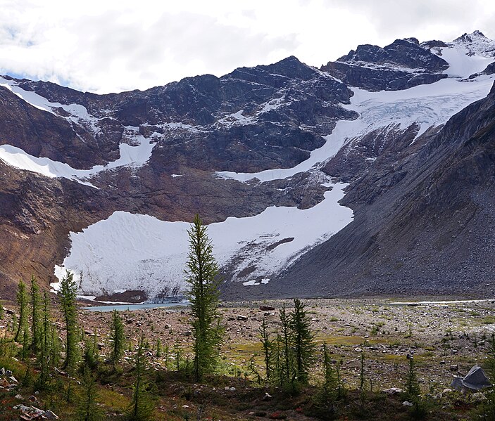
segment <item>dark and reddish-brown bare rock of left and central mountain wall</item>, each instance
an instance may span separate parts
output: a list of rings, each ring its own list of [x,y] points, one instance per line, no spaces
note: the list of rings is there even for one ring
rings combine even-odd
[[[201,212],[211,223],[273,205],[314,206],[325,188],[311,184],[307,174],[258,185],[217,179],[212,171],[292,167],[324,143],[337,119],[356,118],[341,106],[349,103],[347,86],[294,57],[222,78],[204,75],[105,96],[15,82],[62,106],[39,110],[0,87],[0,144],[79,169],[116,160],[119,144],[131,139],[126,126],[153,136],[156,145],[144,167],[94,177],[99,190],[0,162],[0,240],[9,245],[0,252],[2,297],[12,297],[8,285],[26,273],[54,282],[54,264],[69,250],[68,233],[118,210],[168,221],[192,220]],[[93,120],[72,115],[65,107],[70,104],[84,106]]]

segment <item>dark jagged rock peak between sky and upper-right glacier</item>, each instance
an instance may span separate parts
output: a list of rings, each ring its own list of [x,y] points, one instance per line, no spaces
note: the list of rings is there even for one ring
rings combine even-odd
[[[417,39],[397,39],[380,48],[358,46],[321,70],[350,86],[370,91],[396,91],[420,84],[432,84],[446,77],[449,67],[443,58],[423,47]]]

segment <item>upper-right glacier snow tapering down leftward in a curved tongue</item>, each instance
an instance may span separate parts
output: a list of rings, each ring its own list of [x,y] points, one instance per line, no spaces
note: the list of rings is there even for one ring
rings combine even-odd
[[[476,56],[468,57],[464,54],[463,60],[460,60],[461,56],[456,52],[453,57],[455,66],[480,68],[479,65],[472,65],[473,62],[477,63]],[[487,96],[494,80],[494,76],[487,75],[464,81],[441,79],[434,84],[415,86],[403,91],[370,92],[353,88],[351,105],[344,107],[358,112],[358,119],[337,122],[332,134],[325,136],[325,145],[313,150],[308,160],[289,169],[268,169],[252,174],[217,171],[216,174],[238,181],[287,179],[313,167],[321,167],[352,138],[389,124],[400,124],[402,129],[406,129],[411,124],[418,123],[420,130],[417,136],[420,136],[429,127],[444,124],[465,106]]]

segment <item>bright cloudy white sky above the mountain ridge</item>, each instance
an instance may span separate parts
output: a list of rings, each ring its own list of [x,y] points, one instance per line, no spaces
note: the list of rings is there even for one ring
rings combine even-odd
[[[0,0],[0,75],[95,93],[147,89],[359,44],[495,39],[493,0]]]

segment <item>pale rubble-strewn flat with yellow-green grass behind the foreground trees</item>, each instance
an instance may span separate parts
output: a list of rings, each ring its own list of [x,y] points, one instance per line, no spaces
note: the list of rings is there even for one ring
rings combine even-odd
[[[413,356],[420,383],[425,390],[441,391],[454,377],[468,373],[472,365],[483,365],[489,340],[495,332],[495,300],[451,302],[449,304],[394,304],[391,299],[308,299],[304,302],[311,316],[315,340],[326,342],[334,360],[342,361],[344,378],[355,387],[365,353],[365,373],[373,388],[401,387]],[[258,328],[268,320],[272,335],[279,327],[278,309],[290,310],[292,301],[225,303],[220,308],[225,323],[222,359],[226,373],[246,372],[256,355],[263,373]],[[192,332],[187,307],[123,311],[127,337],[149,339],[149,357],[163,366],[164,358],[173,363],[176,341],[184,352],[190,349]],[[87,335],[96,331],[99,346],[108,346],[111,313],[81,311],[80,321]],[[169,352],[157,358],[157,340]],[[128,357],[130,358],[130,357]],[[229,369],[230,368],[230,369]],[[314,372],[318,380],[318,370]]]

